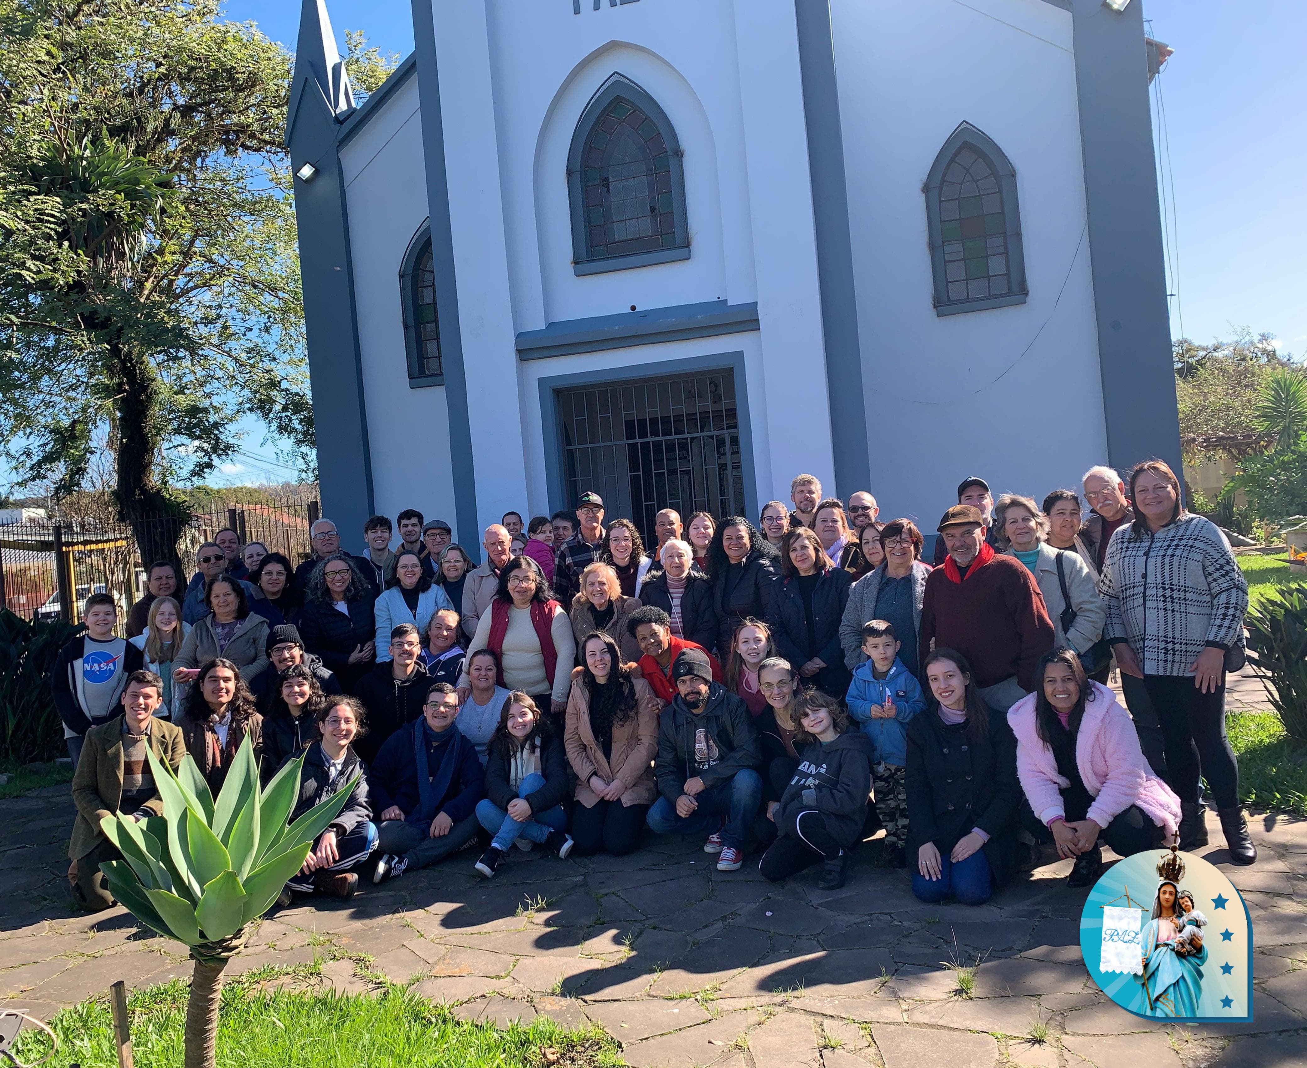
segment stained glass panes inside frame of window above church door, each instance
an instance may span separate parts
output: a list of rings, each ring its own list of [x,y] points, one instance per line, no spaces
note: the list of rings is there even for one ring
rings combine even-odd
[[[676,246],[670,154],[654,120],[629,101],[613,101],[591,131],[582,188],[592,258]]]

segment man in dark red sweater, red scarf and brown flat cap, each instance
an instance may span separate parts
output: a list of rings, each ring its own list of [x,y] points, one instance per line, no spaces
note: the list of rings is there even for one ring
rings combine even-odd
[[[1035,689],[1035,665],[1053,647],[1044,597],[1021,561],[985,541],[979,509],[949,509],[938,529],[949,556],[925,579],[921,660],[932,647],[955,648],[985,703],[1006,712]]]

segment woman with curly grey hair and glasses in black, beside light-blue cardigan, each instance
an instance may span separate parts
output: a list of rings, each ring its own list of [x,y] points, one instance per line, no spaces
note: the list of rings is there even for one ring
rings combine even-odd
[[[346,693],[376,660],[375,603],[349,553],[333,553],[308,575],[299,633],[305,648],[336,672]]]

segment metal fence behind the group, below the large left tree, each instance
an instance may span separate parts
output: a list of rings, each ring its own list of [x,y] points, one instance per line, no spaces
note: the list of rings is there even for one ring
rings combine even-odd
[[[308,497],[209,507],[186,526],[178,553],[190,574],[195,550],[230,527],[242,544],[261,541],[269,552],[284,553],[298,563],[311,552],[308,527],[318,518],[318,499]],[[158,522],[167,520],[161,516]],[[42,514],[38,509],[0,516],[0,605],[25,620],[76,622],[86,597],[110,592],[118,601],[122,626],[127,610],[145,592],[150,563],[141,558],[136,536],[125,523],[59,511]]]

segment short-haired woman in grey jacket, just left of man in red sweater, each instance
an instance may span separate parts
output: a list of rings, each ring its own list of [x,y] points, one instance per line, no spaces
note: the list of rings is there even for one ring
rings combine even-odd
[[[848,591],[844,616],[839,621],[844,664],[852,671],[867,660],[867,654],[863,652],[863,627],[872,620],[887,620],[903,643],[899,659],[916,677],[916,637],[921,630],[925,576],[933,570],[929,563],[921,562],[925,539],[911,519],[893,519],[881,531],[880,542],[885,550],[885,561],[853,583]]]

